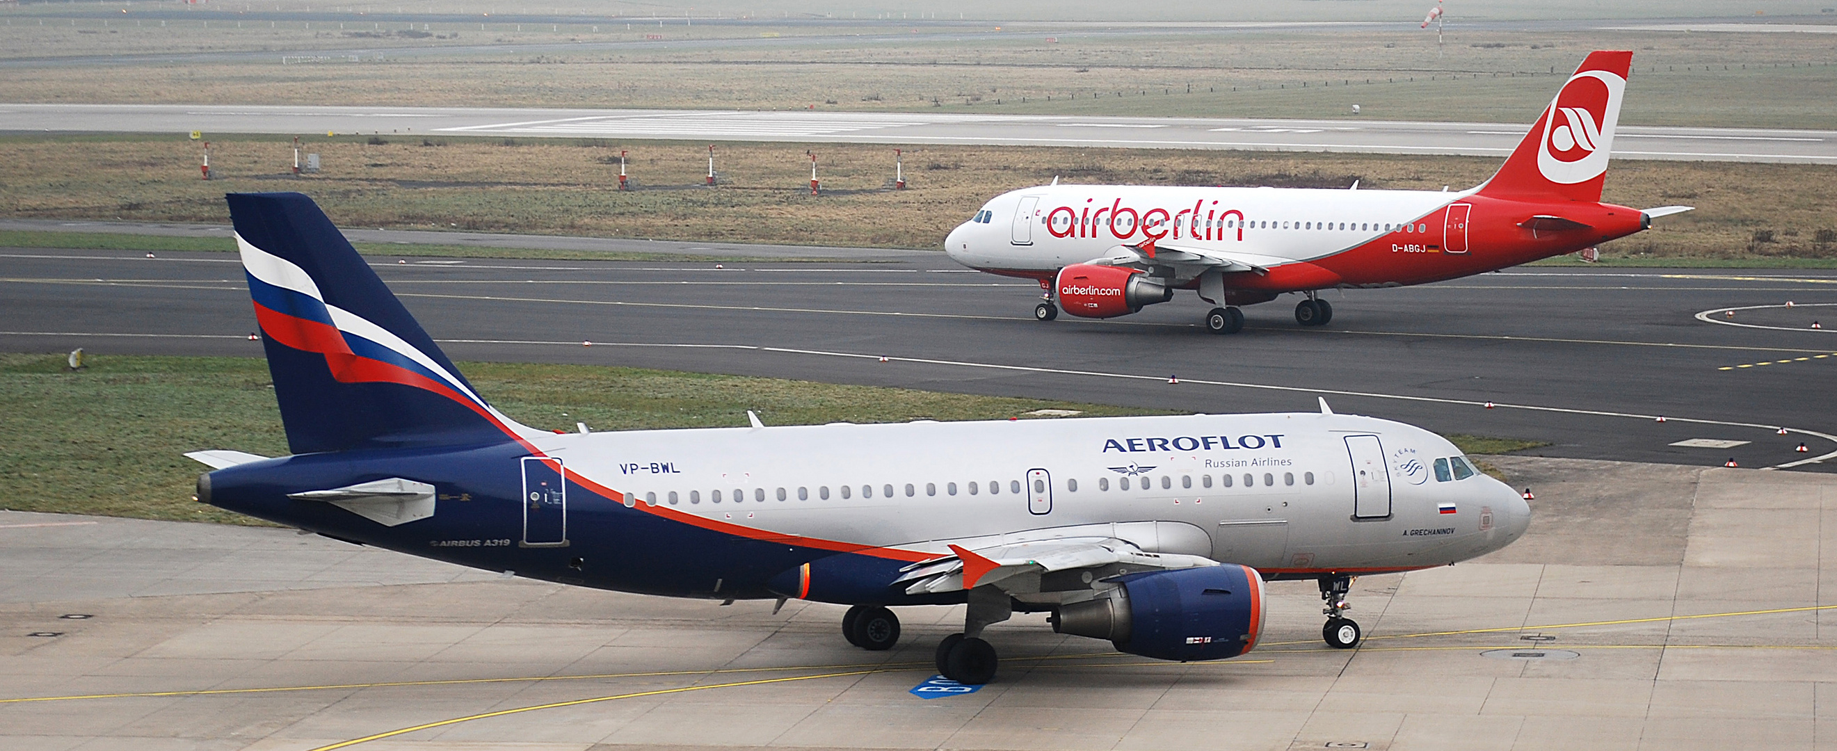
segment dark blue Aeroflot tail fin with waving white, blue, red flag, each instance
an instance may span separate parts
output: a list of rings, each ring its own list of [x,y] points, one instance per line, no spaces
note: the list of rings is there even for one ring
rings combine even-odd
[[[312,198],[230,193],[248,292],[294,454],[513,441]]]

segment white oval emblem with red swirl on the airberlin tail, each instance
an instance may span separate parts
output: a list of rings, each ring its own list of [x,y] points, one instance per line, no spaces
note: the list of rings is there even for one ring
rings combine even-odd
[[[1607,147],[1620,119],[1626,79],[1583,70],[1563,84],[1543,116],[1538,171],[1550,182],[1572,185],[1607,171]]]

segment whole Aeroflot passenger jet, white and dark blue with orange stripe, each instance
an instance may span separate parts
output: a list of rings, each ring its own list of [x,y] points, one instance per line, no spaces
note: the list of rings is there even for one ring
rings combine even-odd
[[[1356,575],[1449,566],[1530,507],[1442,437],[1319,411],[551,433],[487,404],[298,193],[230,195],[292,455],[187,454],[198,499],[336,540],[549,582],[851,606],[968,604],[941,674],[985,683],[983,628],[1157,659],[1257,646],[1264,580],[1319,580],[1348,648]]]

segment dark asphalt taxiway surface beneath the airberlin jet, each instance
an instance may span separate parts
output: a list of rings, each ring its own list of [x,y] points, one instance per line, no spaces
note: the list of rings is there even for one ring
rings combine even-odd
[[[143,255],[0,250],[0,349],[261,354],[233,255]],[[1181,411],[1315,409],[1326,397],[1335,411],[1442,433],[1547,441],[1530,454],[1554,457],[1780,466],[1837,452],[1837,393],[1824,387],[1837,367],[1837,272],[1527,268],[1328,292],[1324,329],[1295,325],[1284,297],[1245,308],[1244,332],[1211,336],[1198,325],[1207,307],[1185,292],[1113,321],[1038,323],[1032,283],[941,253],[907,259],[377,259],[377,270],[456,360]],[[1811,329],[1820,316],[1833,327]],[[1674,446],[1690,439],[1740,444]]]

